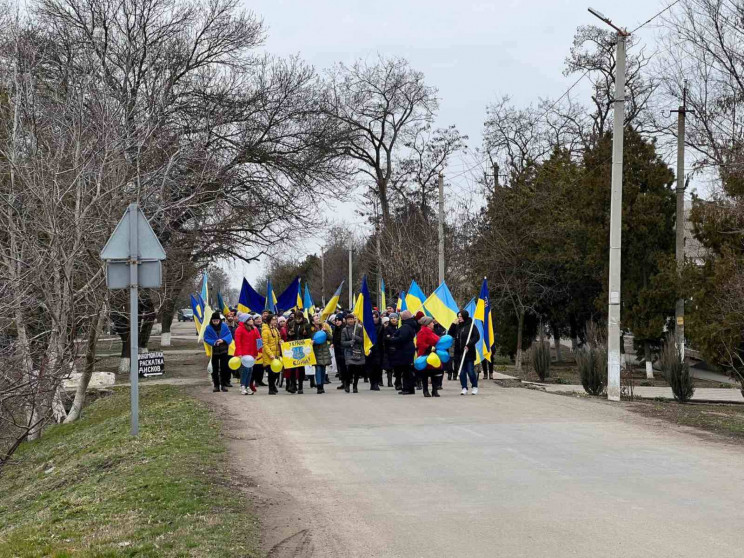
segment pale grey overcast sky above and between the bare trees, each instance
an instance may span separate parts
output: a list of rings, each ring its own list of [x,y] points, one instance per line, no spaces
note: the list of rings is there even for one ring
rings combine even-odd
[[[600,23],[591,6],[615,23],[633,29],[666,6],[667,0],[245,0],[263,18],[267,51],[299,54],[322,70],[334,62],[373,58],[379,52],[403,56],[439,90],[437,125],[456,124],[481,143],[486,106],[509,95],[519,105],[557,98],[575,81],[563,76],[563,63],[576,27]],[[657,31],[638,32],[653,52]],[[586,99],[588,89],[575,89]],[[474,164],[467,156],[453,161],[453,176]],[[458,177],[467,188],[472,174]],[[348,204],[327,210],[339,221],[360,222]],[[320,239],[308,253],[317,252]],[[226,265],[239,285],[263,271],[263,263]],[[261,287],[262,288],[262,287]]]

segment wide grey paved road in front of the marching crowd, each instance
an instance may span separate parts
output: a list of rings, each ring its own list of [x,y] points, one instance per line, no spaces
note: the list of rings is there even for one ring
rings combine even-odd
[[[744,448],[484,386],[212,394],[270,557],[741,557]]]

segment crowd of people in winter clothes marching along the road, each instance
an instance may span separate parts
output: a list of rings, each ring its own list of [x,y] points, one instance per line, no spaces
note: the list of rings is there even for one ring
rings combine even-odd
[[[458,371],[460,393],[478,393],[475,361],[480,336],[478,329],[471,327],[472,318],[466,310],[458,312],[457,321],[449,328],[423,312],[398,313],[388,307],[382,312],[375,308],[372,315],[377,341],[365,354],[363,327],[352,313],[341,311],[323,321],[319,314],[308,319],[302,311],[276,315],[269,311],[249,314],[231,310],[224,319],[220,312],[214,312],[204,332],[204,342],[212,347],[214,391],[228,391],[233,387],[232,380],[239,378],[244,395],[252,395],[260,387],[268,387],[269,395],[277,395],[282,387],[287,393],[302,394],[306,380],[310,389],[322,394],[325,386],[332,383],[328,371],[335,370],[340,380],[337,389],[346,393],[358,393],[361,380],[369,384],[371,391],[388,387],[400,395],[414,395],[418,389],[424,397],[439,397],[444,375],[454,381],[458,379]],[[321,331],[326,335],[317,336]],[[445,335],[452,337],[447,350],[449,358],[441,359],[438,366],[427,364],[426,368],[416,369],[415,359],[436,352]],[[304,339],[314,340],[314,374],[307,374],[304,366],[272,369],[272,362],[281,359],[282,342]],[[318,339],[324,341],[315,342]],[[234,356],[241,357],[237,370],[228,366],[233,341]],[[484,360],[482,370],[484,378],[493,377],[490,362]]]

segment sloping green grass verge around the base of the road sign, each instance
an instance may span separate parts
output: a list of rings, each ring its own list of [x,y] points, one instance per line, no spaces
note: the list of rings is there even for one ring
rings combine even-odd
[[[169,386],[129,390],[24,444],[0,473],[0,556],[259,556],[219,424]]]

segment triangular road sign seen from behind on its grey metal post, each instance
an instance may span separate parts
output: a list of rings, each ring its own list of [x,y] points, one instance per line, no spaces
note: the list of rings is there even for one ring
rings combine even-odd
[[[139,287],[159,288],[165,251],[136,203],[129,204],[101,251],[109,289],[129,288],[129,380],[132,436],[139,433]]]

